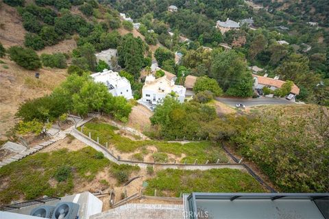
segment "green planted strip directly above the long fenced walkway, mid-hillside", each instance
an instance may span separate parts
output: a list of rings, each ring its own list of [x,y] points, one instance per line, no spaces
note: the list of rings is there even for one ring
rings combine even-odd
[[[99,143],[105,145],[114,144],[115,148],[123,153],[134,152],[137,149],[141,149],[145,146],[156,146],[158,153],[171,153],[173,155],[181,156],[182,153],[186,155],[181,160],[182,163],[194,163],[195,159],[199,163],[205,163],[207,159],[210,163],[228,162],[228,157],[223,152],[220,146],[213,144],[212,142],[191,142],[188,144],[180,144],[173,142],[159,142],[154,140],[131,140],[115,133],[117,128],[105,123],[87,123],[84,126],[83,132],[86,136],[91,133],[91,137],[95,140],[99,137]],[[163,157],[163,155],[162,155]]]

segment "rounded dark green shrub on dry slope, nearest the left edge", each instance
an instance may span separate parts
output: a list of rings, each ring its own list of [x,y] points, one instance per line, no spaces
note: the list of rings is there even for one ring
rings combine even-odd
[[[27,70],[36,70],[41,67],[40,58],[32,49],[17,46],[10,47],[9,55],[11,60]]]

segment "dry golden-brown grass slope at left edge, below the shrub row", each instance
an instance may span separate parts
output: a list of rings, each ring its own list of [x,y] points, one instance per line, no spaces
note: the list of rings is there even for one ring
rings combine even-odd
[[[40,79],[34,78],[34,70],[21,68],[8,58],[1,58],[7,69],[0,66],[0,139],[14,127],[14,114],[21,103],[34,99],[58,86],[66,78],[66,69],[41,68]]]

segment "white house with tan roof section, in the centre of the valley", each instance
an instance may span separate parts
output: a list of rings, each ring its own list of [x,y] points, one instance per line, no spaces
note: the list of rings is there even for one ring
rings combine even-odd
[[[164,75],[156,79],[154,75],[149,74],[145,79],[145,84],[142,89],[142,101],[157,105],[171,92],[175,92],[176,98],[180,103],[184,102],[186,88],[184,86],[175,85],[175,77]]]

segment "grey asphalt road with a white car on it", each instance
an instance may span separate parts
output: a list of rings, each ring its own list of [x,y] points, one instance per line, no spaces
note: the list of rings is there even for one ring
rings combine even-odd
[[[271,97],[260,96],[259,98],[250,98],[250,99],[238,99],[238,98],[222,98],[217,97],[217,101],[235,107],[237,103],[242,103],[246,107],[252,107],[255,105],[288,105],[295,104],[292,101],[286,99],[277,99]]]

